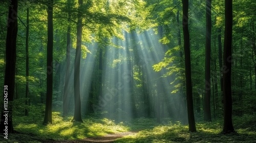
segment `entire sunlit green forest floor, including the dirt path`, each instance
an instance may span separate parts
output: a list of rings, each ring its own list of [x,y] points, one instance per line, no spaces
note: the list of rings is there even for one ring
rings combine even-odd
[[[31,113],[32,114],[32,113]],[[115,122],[108,118],[84,117],[83,123],[70,122],[53,112],[54,123],[42,125],[42,116],[15,116],[15,134],[8,139],[0,134],[1,143],[78,143],[78,142],[256,142],[256,114],[233,116],[236,133],[221,134],[223,118],[212,122],[199,119],[197,132],[188,132],[188,126],[178,121],[162,118],[137,118],[131,122]]]

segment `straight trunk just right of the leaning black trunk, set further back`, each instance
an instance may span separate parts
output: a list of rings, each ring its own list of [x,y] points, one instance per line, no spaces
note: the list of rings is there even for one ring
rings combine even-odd
[[[210,113],[211,0],[206,0],[205,37],[206,37],[206,41],[205,41],[204,121],[211,121],[211,113]]]

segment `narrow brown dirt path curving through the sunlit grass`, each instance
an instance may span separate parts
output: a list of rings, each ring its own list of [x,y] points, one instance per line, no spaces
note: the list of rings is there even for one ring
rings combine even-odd
[[[118,138],[121,138],[126,135],[134,135],[137,132],[122,132],[122,133],[116,133],[116,134],[108,134],[102,137],[90,137],[85,139],[79,139],[79,140],[59,140],[59,141],[49,141],[49,143],[54,142],[64,142],[64,143],[78,143],[78,142],[113,142]]]

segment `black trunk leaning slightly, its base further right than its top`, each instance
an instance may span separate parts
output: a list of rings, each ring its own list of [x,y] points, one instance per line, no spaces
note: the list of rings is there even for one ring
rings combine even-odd
[[[188,32],[188,0],[182,0],[183,5],[183,37],[184,37],[184,53],[185,53],[185,77],[186,77],[186,98],[187,98],[187,117],[188,130],[196,132],[193,97],[192,97],[192,82],[191,82],[191,63],[190,63],[190,43]]]

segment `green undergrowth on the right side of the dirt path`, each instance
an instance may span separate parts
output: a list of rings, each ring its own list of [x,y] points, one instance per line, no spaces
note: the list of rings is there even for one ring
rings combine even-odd
[[[221,134],[223,120],[199,122],[197,132],[188,132],[188,126],[179,122],[145,129],[136,135],[117,139],[115,142],[256,142],[255,115],[233,117],[237,133]],[[133,125],[135,126],[135,125]]]

